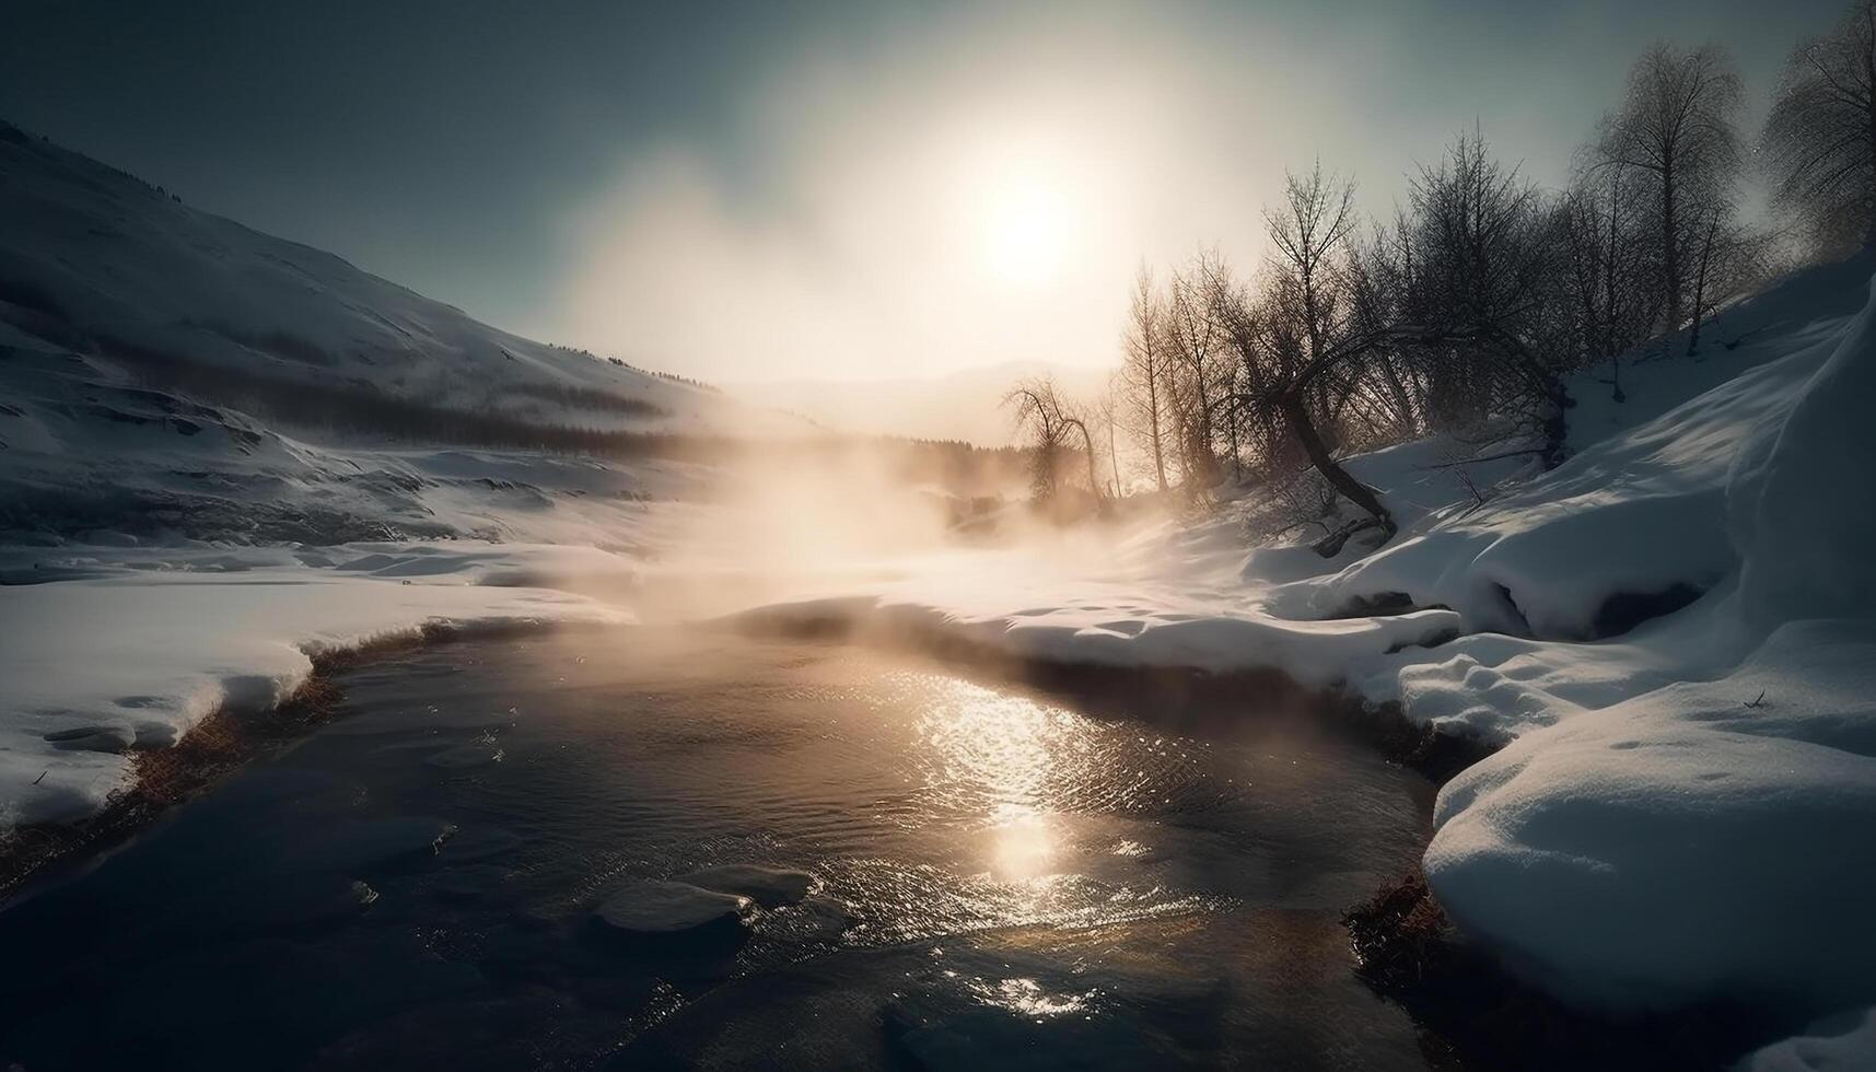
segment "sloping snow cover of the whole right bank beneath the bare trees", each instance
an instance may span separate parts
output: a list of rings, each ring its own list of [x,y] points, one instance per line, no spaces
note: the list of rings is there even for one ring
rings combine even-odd
[[[1409,719],[1505,745],[1441,792],[1426,871],[1514,969],[1617,1008],[1867,1003],[1872,267],[1810,270],[1730,310],[1709,338],[1737,347],[1711,366],[1630,368],[1632,424],[1585,404],[1606,434],[1578,432],[1550,473],[1475,481],[1508,481],[1486,503],[1452,488],[1443,503],[1426,482],[1401,494],[1450,445],[1353,460],[1413,507],[1366,558],[1309,574],[1308,552],[1259,548],[1233,584],[1161,537],[1096,576],[1011,565],[859,603],[1026,655],[1276,666],[1399,700]],[[1608,391],[1593,375],[1572,387]],[[1135,561],[1154,558],[1157,574]],[[1677,586],[1653,620],[1608,616]],[[1394,593],[1422,610],[1332,618]],[[1433,644],[1441,633],[1460,636]]]

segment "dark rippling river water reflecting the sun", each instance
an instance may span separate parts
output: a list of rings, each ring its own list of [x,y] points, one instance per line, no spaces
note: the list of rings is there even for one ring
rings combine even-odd
[[[0,912],[0,1064],[1424,1066],[1338,916],[1431,790],[1255,697],[649,629],[338,683],[345,717]],[[724,864],[809,888],[595,916]]]

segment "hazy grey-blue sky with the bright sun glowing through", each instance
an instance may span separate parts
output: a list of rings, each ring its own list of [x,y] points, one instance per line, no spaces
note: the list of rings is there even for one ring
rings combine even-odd
[[[1756,124],[1840,0],[0,0],[0,118],[508,330],[713,381],[1112,364],[1285,167],[1542,184],[1653,39]]]

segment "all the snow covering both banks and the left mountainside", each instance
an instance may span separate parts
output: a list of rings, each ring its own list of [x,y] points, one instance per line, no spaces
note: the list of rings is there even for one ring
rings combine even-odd
[[[1876,257],[1730,306],[1702,357],[1626,355],[1625,402],[1608,366],[1574,377],[1553,471],[1518,443],[1351,458],[1401,524],[1379,550],[1248,548],[1249,501],[959,550],[852,484],[867,501],[835,518],[794,486],[700,496],[677,462],[407,447],[152,391],[62,325],[527,419],[578,409],[542,385],[660,413],[580,411],[595,426],[741,419],[11,128],[0,154],[0,828],[96,811],[126,749],[278,702],[323,650],[435,620],[627,621],[707,586],[672,606],[1398,702],[1501,745],[1443,789],[1424,864],[1531,980],[1793,1023],[1876,1001]],[[914,550],[855,531],[874,526]],[[1870,1033],[1823,1023],[1748,1066],[1855,1066]]]

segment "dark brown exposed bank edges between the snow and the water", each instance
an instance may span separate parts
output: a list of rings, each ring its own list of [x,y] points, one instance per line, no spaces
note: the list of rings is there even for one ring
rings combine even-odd
[[[591,640],[630,636],[630,631],[572,629]],[[1060,697],[1073,710],[1154,732],[1204,738],[1248,723],[1296,725],[1296,719],[1309,719],[1326,732],[1353,734],[1364,745],[1381,749],[1392,762],[1428,775],[1435,787],[1486,751],[1476,742],[1430,734],[1426,727],[1405,721],[1398,708],[1366,706],[1347,695],[1306,689],[1276,672],[1216,676],[1176,668],[1060,665],[1015,659],[1007,651],[972,646],[947,635],[921,638],[906,633],[863,633],[854,620],[839,618],[805,623],[799,618],[773,620],[758,612],[719,621],[717,631],[936,657],[938,666],[991,689]],[[212,794],[244,764],[317,732],[345,710],[336,680],[347,670],[396,663],[426,650],[443,657],[452,650],[473,657],[484,644],[531,636],[544,638],[548,633],[537,625],[435,625],[413,636],[323,653],[313,661],[313,674],[272,713],[236,717],[221,710],[197,723],[176,747],[141,753],[131,787],[96,819],[28,828],[28,839],[0,854],[6,892],[15,892],[21,879],[56,881],[83,873],[176,805]],[[930,640],[932,646],[923,648],[921,640]],[[1152,713],[1142,719],[1141,712]],[[1334,805],[1332,800],[1326,804]],[[1424,1031],[1418,1046],[1435,1068],[1491,1068],[1508,1063],[1559,1070],[1585,1063],[1604,1068],[1658,1068],[1664,1061],[1673,1066],[1702,1066],[1769,1038],[1760,1019],[1737,1008],[1602,1018],[1565,1006],[1506,974],[1488,950],[1465,941],[1418,875],[1398,886],[1383,886],[1371,901],[1351,907],[1343,926],[1349,927],[1354,971],[1415,1018]]]

